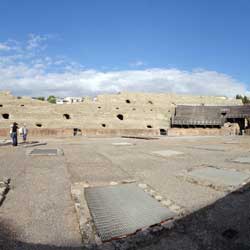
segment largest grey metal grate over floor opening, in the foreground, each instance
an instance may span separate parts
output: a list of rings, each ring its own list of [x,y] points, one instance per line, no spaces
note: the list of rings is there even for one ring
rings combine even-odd
[[[102,241],[128,236],[176,215],[136,184],[90,187],[84,192]]]

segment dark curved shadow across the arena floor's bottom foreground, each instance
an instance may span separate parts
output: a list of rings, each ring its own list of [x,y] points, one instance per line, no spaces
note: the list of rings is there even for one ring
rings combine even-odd
[[[7,224],[0,224],[0,248],[4,250],[80,250],[17,240]],[[228,194],[212,205],[175,222],[172,229],[140,232],[128,239],[105,243],[91,249],[250,250],[250,187]]]

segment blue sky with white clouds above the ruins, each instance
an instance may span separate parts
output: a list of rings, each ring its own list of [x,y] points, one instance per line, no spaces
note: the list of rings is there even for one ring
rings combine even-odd
[[[0,90],[250,95],[249,0],[0,0]]]

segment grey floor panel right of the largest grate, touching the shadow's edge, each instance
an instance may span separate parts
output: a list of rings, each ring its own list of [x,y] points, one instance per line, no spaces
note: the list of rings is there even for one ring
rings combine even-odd
[[[187,173],[186,177],[199,184],[230,190],[250,181],[250,173],[242,173],[233,170],[217,169],[213,167],[204,167],[194,169]]]

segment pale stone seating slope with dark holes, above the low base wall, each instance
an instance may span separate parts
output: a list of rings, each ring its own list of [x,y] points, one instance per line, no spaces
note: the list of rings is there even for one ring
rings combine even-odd
[[[141,129],[153,133],[154,129],[170,127],[170,117],[178,104],[242,103],[225,97],[120,93],[99,95],[95,101],[87,98],[82,103],[56,105],[29,97],[18,99],[9,92],[0,92],[0,128],[9,128],[16,121],[19,125],[25,123],[28,128],[37,129],[81,128],[104,133],[116,129]]]

